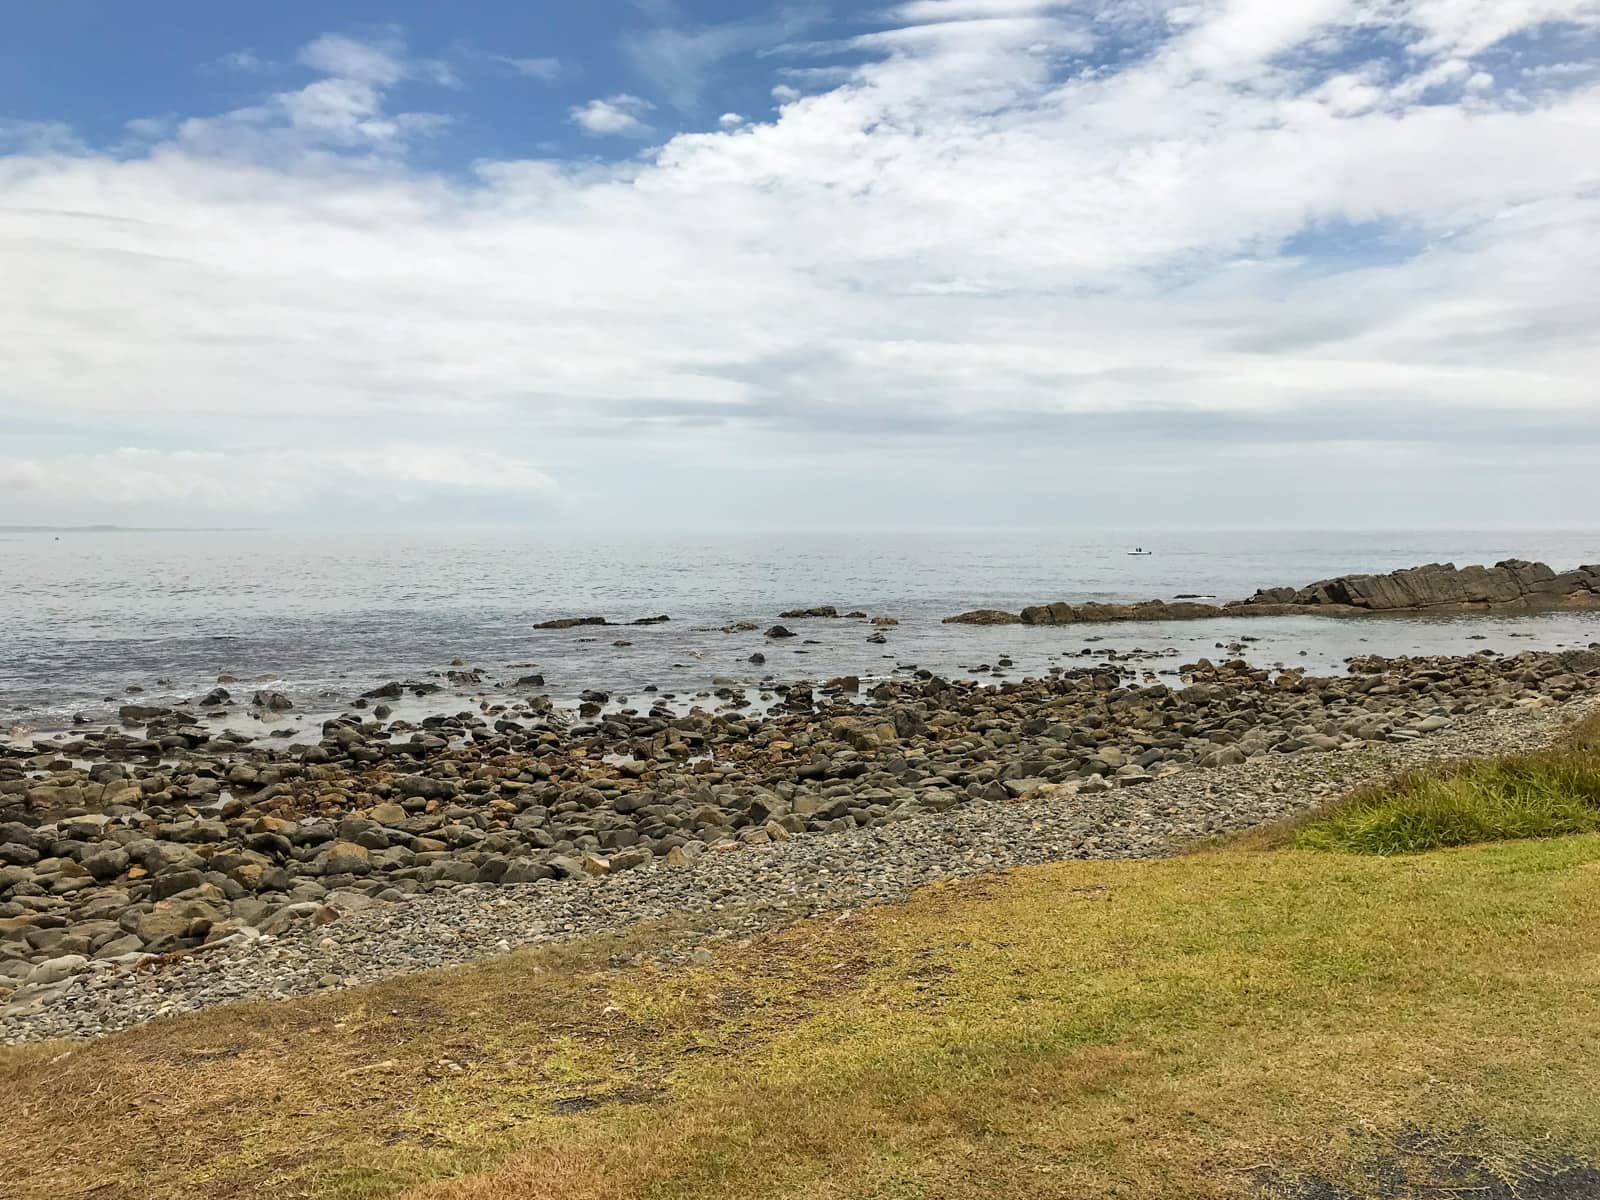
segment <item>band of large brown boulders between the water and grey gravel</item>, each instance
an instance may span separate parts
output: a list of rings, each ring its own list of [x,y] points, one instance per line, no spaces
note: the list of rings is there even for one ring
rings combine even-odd
[[[918,672],[864,696],[853,677],[778,685],[768,715],[602,715],[598,693],[576,720],[544,698],[416,725],[347,714],[317,742],[270,749],[213,739],[190,714],[168,710],[142,738],[10,750],[0,757],[0,1037],[61,1029],[50,1014],[82,979],[144,974],[170,955],[248,957],[269,938],[461,890],[480,904],[494,888],[581,888],[640,870],[659,880],[720,859],[718,848],[800,834],[859,840],[894,827],[907,846],[966,838],[917,851],[925,869],[906,880],[918,882],[939,864],[970,864],[989,843],[987,818],[962,813],[1026,797],[1053,797],[1074,814],[1037,840],[1050,853],[1150,853],[1166,837],[1238,827],[1269,810],[1222,797],[1198,824],[1179,814],[1133,837],[1102,827],[1126,806],[1110,797],[1194,770],[1389,752],[1600,693],[1594,648],[1362,658],[1338,678],[1242,661],[1179,670],[1182,686],[1139,686],[1104,666],[1000,686]],[[925,826],[936,818],[942,824]],[[835,851],[794,853],[818,862]],[[984,861],[1034,861],[1014,854]]]

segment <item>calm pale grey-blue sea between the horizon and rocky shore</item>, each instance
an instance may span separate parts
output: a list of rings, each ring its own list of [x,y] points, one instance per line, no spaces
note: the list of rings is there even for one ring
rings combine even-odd
[[[1154,554],[1131,557],[1134,546]],[[355,533],[0,533],[0,733],[94,722],[136,696],[203,694],[222,674],[280,690],[306,714],[453,659],[485,680],[542,672],[557,699],[654,683],[693,698],[718,683],[890,675],[966,677],[1010,656],[1011,678],[1114,650],[1173,670],[1218,643],[1261,664],[1342,672],[1352,654],[1518,651],[1600,640],[1600,614],[1445,619],[1280,618],[1074,627],[944,626],[970,608],[1053,600],[1222,600],[1256,587],[1427,562],[1600,562],[1600,533],[814,534],[595,538]],[[837,605],[899,619],[888,645],[861,621],[789,621]],[[670,622],[539,632],[555,616]],[[758,629],[722,634],[754,621]],[[624,640],[630,645],[616,646]],[[1082,656],[1091,650],[1091,656]],[[766,654],[752,666],[752,653]],[[987,674],[982,677],[989,677]],[[130,693],[142,688],[141,693]],[[442,707],[466,707],[445,698]],[[637,699],[637,698],[635,698]],[[621,699],[618,702],[622,702]],[[640,704],[640,707],[645,707]],[[243,720],[243,715],[240,715]]]

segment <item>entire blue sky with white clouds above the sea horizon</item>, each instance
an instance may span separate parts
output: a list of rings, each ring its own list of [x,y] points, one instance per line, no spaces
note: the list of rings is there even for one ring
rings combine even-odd
[[[1592,528],[1600,0],[0,8],[0,523]]]

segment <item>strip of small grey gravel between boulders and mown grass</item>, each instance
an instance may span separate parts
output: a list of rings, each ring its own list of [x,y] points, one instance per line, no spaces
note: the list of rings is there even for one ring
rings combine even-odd
[[[699,915],[701,931],[664,957],[702,958],[717,938],[899,901],[934,880],[1061,859],[1171,854],[1398,768],[1547,744],[1597,707],[1586,698],[1472,714],[1414,741],[1253,758],[1109,790],[1040,784],[1019,800],[979,798],[848,832],[726,850],[694,843],[674,861],[592,878],[469,885],[400,902],[334,894],[331,904],[291,906],[272,934],[245,928],[195,954],[144,960],[139,970],[136,957],[96,960],[88,971],[35,981],[0,1014],[0,1043],[94,1037],[211,1005],[349,987],[682,914]]]

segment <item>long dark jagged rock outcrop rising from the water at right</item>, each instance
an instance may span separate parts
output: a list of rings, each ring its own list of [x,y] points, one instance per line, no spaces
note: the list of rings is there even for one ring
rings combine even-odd
[[[1219,616],[1370,616],[1387,613],[1546,613],[1600,610],[1600,565],[1555,571],[1507,558],[1494,566],[1427,563],[1389,574],[1341,574],[1306,587],[1266,587],[1245,600],[1206,605],[1146,600],[1133,605],[1034,605],[1019,614],[979,610],[946,624],[1070,626],[1101,621],[1194,621]]]

